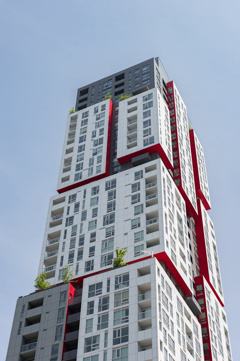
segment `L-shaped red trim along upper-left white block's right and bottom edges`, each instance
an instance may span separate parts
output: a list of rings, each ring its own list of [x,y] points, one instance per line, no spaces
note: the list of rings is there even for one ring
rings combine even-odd
[[[95,177],[85,179],[84,181],[69,184],[69,186],[67,186],[67,187],[60,188],[60,189],[57,190],[57,192],[59,194],[61,194],[63,192],[70,191],[72,189],[75,189],[75,188],[78,188],[78,187],[81,187],[81,186],[84,186],[85,184],[98,181],[99,179],[103,179],[103,178],[109,176],[109,174],[110,174],[110,171],[109,171],[109,169],[110,169],[110,155],[111,155],[112,114],[113,114],[113,103],[112,103],[112,100],[110,99],[109,116],[108,116],[108,138],[107,138],[107,153],[106,153],[105,172],[101,173],[99,175],[95,175]]]

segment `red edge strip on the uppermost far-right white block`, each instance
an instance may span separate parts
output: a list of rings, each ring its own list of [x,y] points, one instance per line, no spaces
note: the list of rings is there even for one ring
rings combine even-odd
[[[207,199],[205,198],[203,192],[201,191],[201,186],[200,186],[198,161],[197,161],[197,154],[196,154],[196,144],[195,144],[193,129],[189,130],[189,138],[190,138],[190,147],[191,147],[191,154],[192,154],[192,161],[193,161],[193,173],[194,173],[196,196],[201,199],[201,201],[204,205],[204,208],[206,210],[209,210],[209,209],[211,209],[211,207],[210,207]]]

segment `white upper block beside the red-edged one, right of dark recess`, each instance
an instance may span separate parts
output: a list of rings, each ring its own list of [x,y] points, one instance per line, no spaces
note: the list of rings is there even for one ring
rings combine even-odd
[[[149,126],[144,126],[146,121]],[[142,149],[148,152],[147,148],[156,144],[161,145],[172,164],[169,112],[159,90],[154,88],[120,101],[117,158]]]

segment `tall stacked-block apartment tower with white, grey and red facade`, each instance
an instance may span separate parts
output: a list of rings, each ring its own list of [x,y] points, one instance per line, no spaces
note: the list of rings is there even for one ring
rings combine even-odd
[[[7,361],[232,360],[203,149],[159,58],[78,89],[57,191],[52,286],[18,299]]]

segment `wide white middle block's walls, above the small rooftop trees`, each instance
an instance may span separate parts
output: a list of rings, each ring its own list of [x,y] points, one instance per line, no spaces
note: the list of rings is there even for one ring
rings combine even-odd
[[[140,171],[142,171],[142,178],[136,179],[136,172]],[[111,203],[112,200],[108,202],[109,190],[105,191],[105,182],[115,179],[116,186],[112,190],[116,190],[116,200],[114,200],[116,209],[108,213],[107,204]],[[140,187],[139,191],[132,192],[132,184],[136,184],[134,189]],[[151,184],[150,187],[149,184]],[[99,186],[99,194],[91,196],[92,187],[95,186]],[[84,190],[86,190],[85,199],[83,199]],[[73,194],[76,194],[76,201],[68,204],[69,195]],[[137,194],[139,199],[132,200],[132,196],[135,197]],[[91,199],[97,196],[99,197],[98,205],[90,206]],[[74,213],[74,206],[78,202],[80,203],[79,211]],[[135,209],[135,206],[141,207],[141,205],[142,210]],[[92,209],[96,207],[98,207],[97,216],[92,218]],[[86,221],[81,221],[82,212],[85,211],[87,211]],[[69,212],[68,215],[67,212]],[[56,213],[63,214],[62,218],[51,221],[54,219],[51,216]],[[115,222],[104,226],[103,217],[113,213],[115,213]],[[65,227],[67,218],[72,216],[74,216],[73,223]],[[133,228],[131,221],[137,218],[137,223],[140,226],[138,224],[136,228]],[[96,220],[96,229],[89,230],[89,222],[94,220]],[[71,236],[73,226],[77,226],[75,236]],[[106,228],[113,226],[115,228],[114,245],[109,252],[101,253],[102,242],[111,238],[111,236],[106,237]],[[65,239],[64,230],[67,230]],[[95,231],[96,241],[90,242],[90,234]],[[137,237],[137,232],[142,232],[142,234]],[[78,246],[79,238],[82,235],[85,235],[84,245]],[[71,248],[70,242],[74,238],[76,238],[75,246]],[[53,239],[57,239],[57,242],[48,244],[48,241],[50,240],[51,243]],[[63,248],[64,242],[65,247]],[[92,246],[95,246],[95,253],[94,256],[89,257],[89,247]],[[185,202],[160,159],[52,197],[47,216],[39,272],[42,272],[44,266],[50,267],[50,269],[46,269],[47,278],[51,284],[60,282],[58,280],[59,269],[68,264],[69,252],[74,252],[73,262],[70,262],[69,265],[76,270],[77,264],[79,264],[79,271],[76,276],[89,273],[85,272],[86,261],[94,261],[94,267],[91,271],[108,268],[110,261],[107,266],[101,267],[101,257],[106,253],[112,255],[117,246],[120,248],[127,247],[126,261],[144,256],[144,253],[140,253],[140,247],[154,253],[166,252],[187,286],[193,291]],[[77,261],[78,250],[80,249],[83,249],[82,260]],[[54,251],[56,254],[51,253]],[[139,251],[139,255],[136,256],[135,252],[137,251]],[[46,255],[46,252],[49,255]],[[62,266],[60,266],[61,256],[63,256]],[[111,258],[113,257],[111,256],[109,260]],[[55,268],[56,271],[51,270],[51,268]]]

